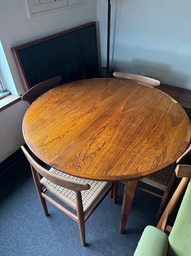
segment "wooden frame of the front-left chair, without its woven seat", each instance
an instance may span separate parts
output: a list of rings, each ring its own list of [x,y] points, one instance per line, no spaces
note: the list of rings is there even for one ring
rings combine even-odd
[[[41,167],[34,159],[33,157],[28,153],[28,151],[22,146],[22,151],[26,155],[30,165],[31,170],[34,178],[34,183],[39,195],[40,202],[42,204],[42,208],[44,210],[44,213],[46,216],[48,216],[48,209],[46,206],[45,199],[51,202],[53,205],[55,205],[57,208],[59,208],[62,212],[70,216],[73,220],[78,222],[79,224],[79,232],[80,232],[80,238],[81,243],[84,246],[85,245],[85,222],[89,219],[90,215],[96,210],[96,208],[99,206],[99,204],[103,201],[103,199],[107,196],[107,194],[113,189],[115,183],[109,183],[111,184],[110,188],[107,190],[107,192],[104,194],[104,196],[101,197],[99,202],[96,203],[94,208],[88,213],[88,215],[84,218],[84,210],[83,210],[83,203],[82,203],[82,196],[81,191],[89,190],[90,185],[85,182],[80,182],[73,179],[67,179],[62,176],[56,175],[54,173],[51,173],[50,171],[46,170],[44,167]],[[67,188],[69,190],[75,191],[76,194],[76,208],[77,208],[77,215],[73,214],[71,211],[69,211],[67,208],[63,207],[61,204],[56,202],[51,196],[48,196],[45,192],[46,189],[43,191],[43,185],[41,184],[41,180],[39,178],[39,174],[43,176],[45,179],[51,181],[52,183],[59,185],[61,187]],[[87,180],[88,181],[88,180]]]

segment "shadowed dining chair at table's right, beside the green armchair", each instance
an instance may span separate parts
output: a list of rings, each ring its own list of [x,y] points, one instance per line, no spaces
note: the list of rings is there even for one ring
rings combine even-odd
[[[160,197],[162,199],[161,203],[160,203],[160,206],[158,208],[157,216],[156,216],[157,220],[159,220],[159,218],[161,217],[161,214],[163,212],[163,208],[166,204],[166,201],[169,198],[169,193],[172,190],[172,187],[173,187],[174,182],[176,180],[176,174],[175,174],[175,171],[174,171],[175,168],[176,168],[176,165],[177,164],[183,164],[184,161],[188,158],[188,156],[190,154],[191,154],[191,144],[186,149],[185,153],[183,155],[181,155],[176,162],[172,163],[171,165],[163,168],[162,170],[160,170],[156,173],[150,174],[150,175],[144,177],[143,179],[139,180],[140,185],[141,185],[141,182],[143,182],[147,185],[150,185],[152,187],[155,187],[155,188],[159,189],[160,191],[163,191],[162,192],[163,195],[161,195],[161,193],[157,194],[156,192],[153,192],[150,189],[146,189],[146,188],[143,188],[143,187],[137,185],[138,189],[140,189],[142,191],[146,191],[146,192],[148,192],[148,193],[150,193],[154,196]],[[116,202],[116,198],[117,198],[117,191],[118,191],[117,187],[118,187],[118,184],[116,183],[116,188],[113,189],[113,191],[110,192],[110,197],[113,196],[113,198],[115,198],[113,200],[114,203]],[[112,193],[113,193],[113,195],[112,195]]]

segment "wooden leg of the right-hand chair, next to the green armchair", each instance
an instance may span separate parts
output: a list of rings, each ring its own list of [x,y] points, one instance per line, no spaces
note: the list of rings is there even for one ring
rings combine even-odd
[[[164,208],[164,206],[166,204],[167,199],[169,198],[169,193],[170,193],[170,191],[171,191],[171,189],[172,189],[172,187],[174,185],[175,180],[176,180],[176,174],[173,171],[171,176],[170,176],[169,183],[167,185],[167,189],[166,189],[166,191],[163,194],[163,198],[162,198],[160,206],[158,208],[156,220],[159,220],[161,215],[162,215],[162,213],[163,213],[163,208]]]

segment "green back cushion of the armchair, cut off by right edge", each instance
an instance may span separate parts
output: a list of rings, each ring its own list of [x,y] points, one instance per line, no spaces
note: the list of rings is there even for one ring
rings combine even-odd
[[[191,180],[169,235],[168,256],[191,255]]]

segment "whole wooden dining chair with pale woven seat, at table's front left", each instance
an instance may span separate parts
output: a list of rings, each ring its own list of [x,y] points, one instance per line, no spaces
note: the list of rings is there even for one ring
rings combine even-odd
[[[30,162],[34,183],[45,215],[49,215],[45,202],[46,199],[53,205],[55,205],[57,208],[62,210],[64,213],[66,213],[68,216],[70,216],[73,220],[78,222],[81,243],[84,246],[84,224],[86,220],[89,219],[90,215],[98,207],[98,205],[107,196],[110,190],[112,190],[114,183],[90,179],[81,179],[57,171],[54,168],[46,170],[44,167],[40,166],[34,160],[34,158],[28,153],[28,151],[23,146],[21,148],[24,154],[26,155],[28,161]],[[42,179],[39,178],[39,174],[43,177]],[[43,187],[45,188],[45,190],[43,190]],[[51,196],[46,194],[46,191],[49,191],[62,202],[67,204],[69,207],[73,208],[77,212],[77,215],[73,214],[70,210],[56,202],[56,200],[54,200]],[[98,200],[99,202],[97,202]]]

